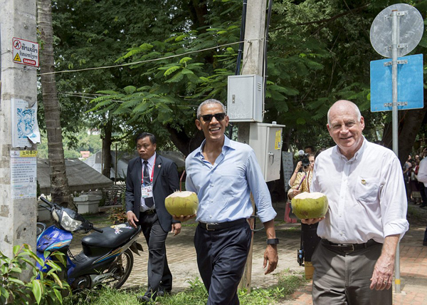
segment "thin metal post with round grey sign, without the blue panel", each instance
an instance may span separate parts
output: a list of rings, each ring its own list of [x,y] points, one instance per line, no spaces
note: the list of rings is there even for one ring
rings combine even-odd
[[[391,57],[391,117],[393,119],[393,151],[396,156],[399,156],[397,65],[406,63],[405,61],[398,61],[398,57],[411,52],[421,41],[422,36],[423,17],[419,11],[408,4],[394,4],[387,7],[376,16],[371,26],[370,38],[375,51],[384,57]],[[404,103],[404,101],[400,101],[400,103]],[[396,249],[396,268],[394,272],[395,292],[400,294],[401,279],[399,244]]]

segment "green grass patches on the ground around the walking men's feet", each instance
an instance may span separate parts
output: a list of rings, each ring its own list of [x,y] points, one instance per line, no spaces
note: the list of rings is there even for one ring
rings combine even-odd
[[[293,294],[307,281],[303,272],[292,272],[289,269],[278,274],[278,285],[266,289],[255,288],[250,293],[238,291],[241,305],[268,305],[277,304]],[[169,296],[158,297],[157,305],[204,305],[208,294],[200,279],[189,281],[190,287],[184,291]],[[78,294],[65,299],[65,305],[137,305],[137,296],[144,294],[144,289],[115,290],[102,289],[90,291],[88,294]]]

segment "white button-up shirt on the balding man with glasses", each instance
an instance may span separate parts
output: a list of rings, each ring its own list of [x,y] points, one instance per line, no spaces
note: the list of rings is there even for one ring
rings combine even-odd
[[[408,230],[406,192],[401,165],[389,149],[363,140],[347,160],[337,146],[315,162],[312,192],[329,201],[317,234],[330,242],[360,244]]]

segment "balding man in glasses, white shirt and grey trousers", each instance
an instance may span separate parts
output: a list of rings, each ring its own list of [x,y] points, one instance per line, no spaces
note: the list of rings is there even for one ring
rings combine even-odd
[[[316,160],[312,192],[327,196],[315,224],[322,238],[312,255],[312,301],[317,304],[392,304],[396,247],[408,230],[406,193],[399,159],[369,143],[357,105],[338,100],[327,113],[337,144]]]

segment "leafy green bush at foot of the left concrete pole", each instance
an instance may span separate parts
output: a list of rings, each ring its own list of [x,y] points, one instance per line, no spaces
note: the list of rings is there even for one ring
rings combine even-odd
[[[0,304],[63,304],[63,292],[70,291],[67,282],[58,276],[60,265],[66,266],[65,254],[54,252],[51,257],[55,262],[46,259],[43,263],[28,244],[15,246],[13,252],[11,258],[0,252]],[[38,269],[36,262],[43,267]],[[21,280],[28,269],[32,272],[30,281]]]

